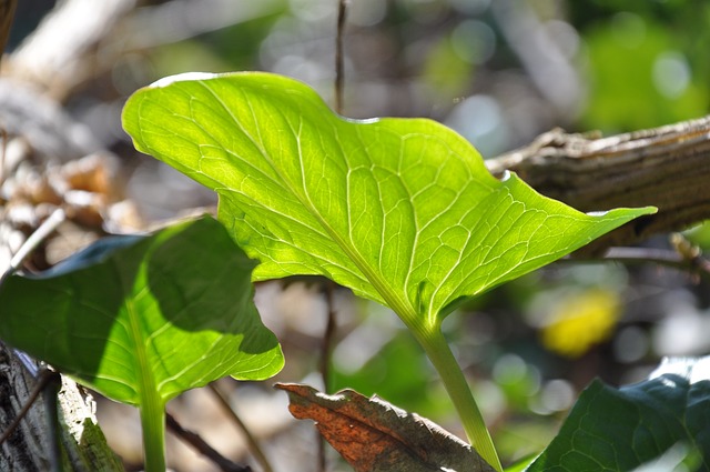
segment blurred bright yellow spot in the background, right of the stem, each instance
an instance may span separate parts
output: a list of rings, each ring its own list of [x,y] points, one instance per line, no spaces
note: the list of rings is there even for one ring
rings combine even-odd
[[[565,297],[542,328],[542,344],[568,358],[579,358],[594,344],[607,340],[620,314],[618,293],[589,289]]]

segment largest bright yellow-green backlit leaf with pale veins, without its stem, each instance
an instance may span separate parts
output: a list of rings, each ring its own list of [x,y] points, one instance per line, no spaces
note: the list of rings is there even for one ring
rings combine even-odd
[[[584,214],[425,119],[347,120],[267,73],[185,74],[123,111],[135,147],[214,189],[256,280],[322,274],[438,327],[457,302],[651,209]]]

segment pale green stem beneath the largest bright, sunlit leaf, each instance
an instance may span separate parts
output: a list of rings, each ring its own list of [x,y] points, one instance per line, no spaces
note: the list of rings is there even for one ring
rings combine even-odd
[[[422,327],[418,327],[419,329],[409,328],[442,378],[471,445],[486,462],[496,471],[501,472],[503,466],[490,439],[490,433],[440,327],[428,330],[423,330]]]

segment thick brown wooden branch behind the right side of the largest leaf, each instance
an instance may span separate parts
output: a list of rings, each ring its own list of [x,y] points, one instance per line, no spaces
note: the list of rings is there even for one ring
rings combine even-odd
[[[592,243],[587,255],[710,219],[710,116],[607,138],[557,129],[487,165],[581,211],[658,208]]]

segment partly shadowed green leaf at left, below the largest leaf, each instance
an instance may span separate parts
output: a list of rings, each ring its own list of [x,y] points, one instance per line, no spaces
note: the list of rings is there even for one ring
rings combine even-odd
[[[212,218],[99,241],[0,287],[0,338],[104,395],[160,405],[283,365],[253,303],[254,261]]]

